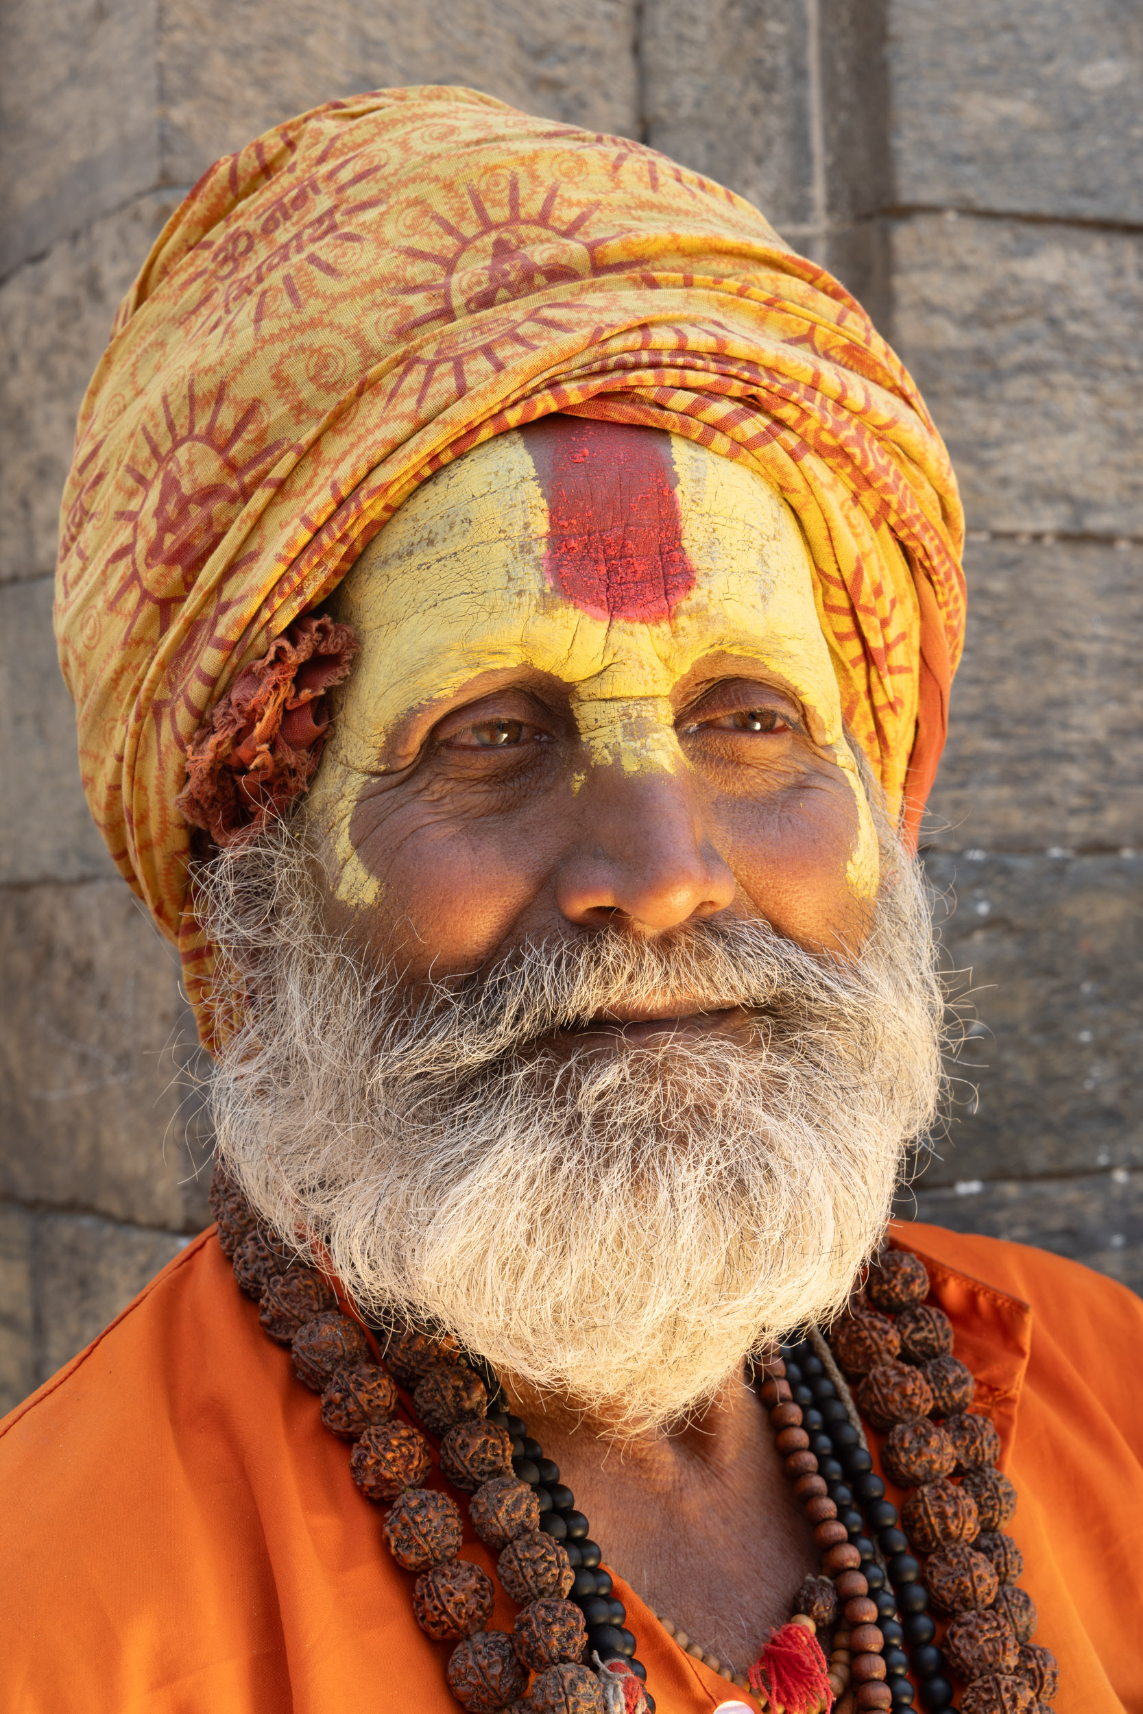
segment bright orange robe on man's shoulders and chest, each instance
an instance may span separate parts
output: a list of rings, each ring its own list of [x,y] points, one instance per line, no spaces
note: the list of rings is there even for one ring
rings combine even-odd
[[[1138,1714],[1143,1303],[1020,1244],[893,1238],[1001,1429],[1056,1714]],[[0,1423],[0,1709],[458,1714],[451,1645],[418,1630],[380,1519],[211,1229]],[[475,1537],[464,1553],[492,1570]],[[660,1714],[742,1699],[615,1592]],[[494,1623],[514,1611],[500,1592]]]

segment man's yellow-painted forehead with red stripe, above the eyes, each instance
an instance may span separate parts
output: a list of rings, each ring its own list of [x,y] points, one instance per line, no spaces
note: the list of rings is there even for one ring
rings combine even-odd
[[[720,651],[761,651],[812,704],[836,699],[790,509],[653,428],[552,417],[473,447],[406,500],[338,605],[389,718],[521,663],[663,696]]]

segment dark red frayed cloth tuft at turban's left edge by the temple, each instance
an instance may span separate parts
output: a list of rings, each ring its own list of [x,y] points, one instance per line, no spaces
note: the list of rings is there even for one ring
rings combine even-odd
[[[326,742],[326,691],[350,672],[351,626],[307,615],[238,674],[187,751],[175,799],[192,828],[233,845],[307,788]]]

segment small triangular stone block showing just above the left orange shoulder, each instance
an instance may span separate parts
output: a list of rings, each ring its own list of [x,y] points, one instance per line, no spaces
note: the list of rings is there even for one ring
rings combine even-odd
[[[187,1243],[93,1215],[41,1215],[38,1383],[89,1345]]]

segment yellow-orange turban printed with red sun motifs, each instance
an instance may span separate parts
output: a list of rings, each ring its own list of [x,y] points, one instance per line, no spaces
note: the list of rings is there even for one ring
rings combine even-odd
[[[776,485],[843,711],[915,831],[965,584],[956,482],[903,365],[730,190],[470,89],[382,89],[199,180],[79,417],[57,636],[84,788],[192,998],[195,732],[267,651],[274,677],[420,482],[548,411],[668,428]]]

